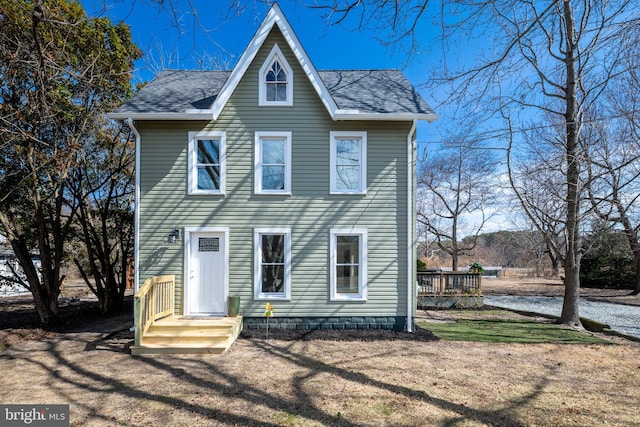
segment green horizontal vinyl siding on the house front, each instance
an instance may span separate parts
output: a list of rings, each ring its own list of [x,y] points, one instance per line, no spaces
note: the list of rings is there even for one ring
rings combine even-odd
[[[258,70],[277,42],[294,71],[292,107],[258,107]],[[229,228],[229,294],[241,314],[261,316],[253,299],[254,228],[291,229],[291,300],[273,305],[276,316],[406,315],[407,136],[410,122],[331,120],[277,30],[215,122],[140,121],[140,280],[176,275],[176,311],[182,312],[184,236],[168,244],[174,228]],[[226,194],[188,195],[188,132],[226,132]],[[367,132],[367,193],[329,194],[329,133]],[[292,133],[291,195],[254,194],[254,132]],[[329,301],[332,228],[368,231],[366,302]]]

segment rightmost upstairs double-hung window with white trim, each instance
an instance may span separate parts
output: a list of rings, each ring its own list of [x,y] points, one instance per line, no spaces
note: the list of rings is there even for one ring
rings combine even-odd
[[[330,172],[332,194],[367,192],[367,133],[330,133]]]

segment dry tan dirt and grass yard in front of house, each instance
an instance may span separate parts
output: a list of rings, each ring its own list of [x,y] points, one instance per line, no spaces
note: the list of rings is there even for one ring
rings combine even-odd
[[[485,293],[515,286],[489,282]],[[539,287],[537,295],[560,288],[517,286]],[[421,316],[450,321],[460,312]],[[223,356],[132,357],[130,324],[122,314],[58,331],[0,327],[0,403],[70,404],[78,426],[640,425],[640,345],[620,338],[517,345],[426,332],[367,341],[254,336]]]

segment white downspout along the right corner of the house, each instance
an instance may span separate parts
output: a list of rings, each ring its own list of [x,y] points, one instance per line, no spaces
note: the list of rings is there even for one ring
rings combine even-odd
[[[407,331],[413,332],[413,306],[414,306],[414,271],[416,263],[416,224],[414,203],[415,182],[415,147],[413,145],[416,133],[417,121],[413,121],[409,135],[407,136]]]

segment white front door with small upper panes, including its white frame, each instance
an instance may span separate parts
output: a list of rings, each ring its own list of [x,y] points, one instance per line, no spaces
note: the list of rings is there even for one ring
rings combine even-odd
[[[185,314],[226,314],[225,238],[221,232],[190,233]]]

